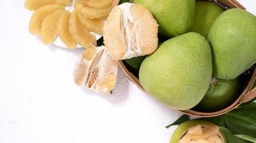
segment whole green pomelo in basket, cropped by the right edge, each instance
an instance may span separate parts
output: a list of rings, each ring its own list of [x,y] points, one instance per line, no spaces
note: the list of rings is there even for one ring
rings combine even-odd
[[[235,79],[256,62],[256,17],[242,9],[224,11],[212,24],[208,40],[214,77]]]

